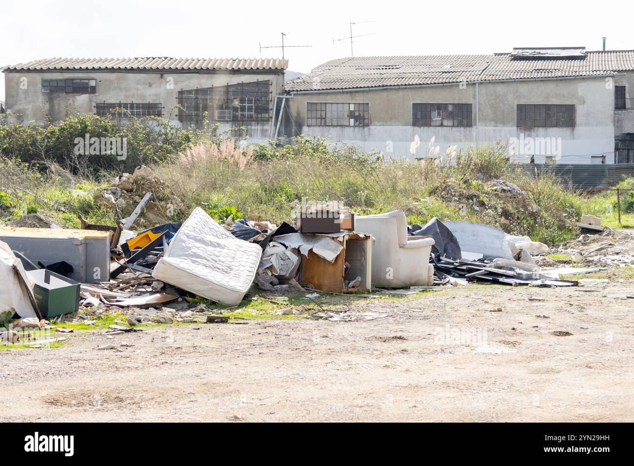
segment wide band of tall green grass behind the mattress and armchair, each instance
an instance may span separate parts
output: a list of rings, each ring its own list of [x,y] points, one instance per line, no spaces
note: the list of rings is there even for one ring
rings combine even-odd
[[[172,191],[190,206],[235,206],[254,220],[288,220],[293,202],[302,198],[338,200],[362,215],[402,209],[410,223],[462,219],[553,243],[576,234],[574,223],[588,206],[552,175],[523,174],[500,143],[417,162],[384,161],[381,154],[318,138],[258,146],[253,159],[239,166],[212,156],[205,145],[192,151],[207,155],[195,166],[172,162],[157,168]],[[526,195],[500,195],[488,186],[494,179],[512,181]]]

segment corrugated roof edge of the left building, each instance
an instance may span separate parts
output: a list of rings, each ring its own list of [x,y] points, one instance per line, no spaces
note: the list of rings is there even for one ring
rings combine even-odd
[[[4,70],[283,70],[281,58],[46,58],[8,65]]]

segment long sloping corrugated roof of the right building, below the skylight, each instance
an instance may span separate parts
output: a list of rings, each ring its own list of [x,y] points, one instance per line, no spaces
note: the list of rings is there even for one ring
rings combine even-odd
[[[514,60],[495,55],[365,56],[339,58],[288,82],[287,91],[418,86],[455,82],[547,79],[634,70],[634,51],[585,52],[581,58]]]

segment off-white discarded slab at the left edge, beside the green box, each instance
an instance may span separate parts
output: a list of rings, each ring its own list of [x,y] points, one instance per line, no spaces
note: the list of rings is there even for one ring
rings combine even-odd
[[[10,317],[15,314],[22,318],[37,317],[29,296],[34,280],[24,270],[22,262],[17,259],[7,243],[0,241],[0,314],[7,312]],[[27,286],[29,287],[27,289]]]

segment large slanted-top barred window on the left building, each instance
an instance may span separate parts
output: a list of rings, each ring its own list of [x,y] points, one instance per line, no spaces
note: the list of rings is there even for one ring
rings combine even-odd
[[[218,87],[181,89],[178,119],[182,123],[264,121],[271,118],[271,82],[254,81]]]

